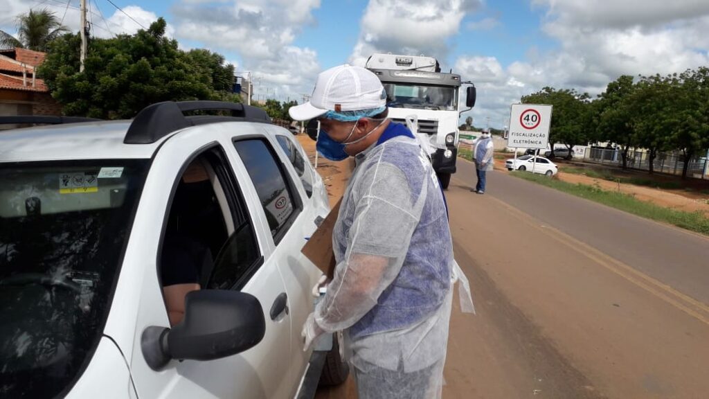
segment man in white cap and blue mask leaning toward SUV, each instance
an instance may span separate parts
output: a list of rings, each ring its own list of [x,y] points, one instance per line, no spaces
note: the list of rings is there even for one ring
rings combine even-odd
[[[342,330],[360,399],[440,397],[454,261],[428,157],[386,119],[384,88],[362,67],[320,73],[311,101],[289,112],[319,129],[326,158],[356,161],[333,230],[335,274],[303,325],[305,350]]]

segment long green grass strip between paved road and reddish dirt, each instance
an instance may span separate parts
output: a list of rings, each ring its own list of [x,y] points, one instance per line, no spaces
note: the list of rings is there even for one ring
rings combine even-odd
[[[659,207],[649,202],[636,200],[632,195],[623,194],[622,192],[605,191],[597,186],[574,185],[557,179],[549,179],[549,177],[545,176],[532,175],[532,173],[527,172],[513,171],[511,174],[640,217],[656,220],[657,222],[674,224],[674,226],[681,227],[682,229],[709,235],[709,218],[705,217],[702,212],[676,211],[674,209]]]

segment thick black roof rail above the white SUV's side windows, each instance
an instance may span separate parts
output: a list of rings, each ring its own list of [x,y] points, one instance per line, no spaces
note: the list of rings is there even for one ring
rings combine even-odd
[[[189,111],[231,111],[231,116],[185,116]],[[255,106],[235,102],[184,101],[158,102],[146,106],[135,116],[125,133],[125,144],[155,143],[173,131],[189,126],[223,121],[251,121],[270,124],[266,111]]]

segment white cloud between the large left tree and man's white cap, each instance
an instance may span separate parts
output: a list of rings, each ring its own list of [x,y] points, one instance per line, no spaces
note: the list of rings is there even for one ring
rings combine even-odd
[[[240,55],[240,74],[252,72],[255,94],[291,99],[312,90],[317,54],[293,45],[314,23],[320,0],[182,0],[172,8],[178,40]]]

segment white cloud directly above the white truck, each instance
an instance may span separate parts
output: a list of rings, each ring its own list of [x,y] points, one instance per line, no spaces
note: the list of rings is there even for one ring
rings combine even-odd
[[[364,65],[372,53],[425,54],[445,58],[446,40],[459,32],[467,11],[481,0],[370,0],[350,62]]]

